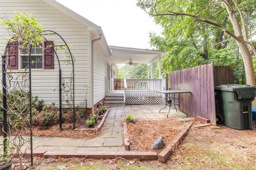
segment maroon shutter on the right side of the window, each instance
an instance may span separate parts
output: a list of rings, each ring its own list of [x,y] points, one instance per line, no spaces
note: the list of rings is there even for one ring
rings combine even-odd
[[[44,69],[54,69],[53,41],[44,41]]]

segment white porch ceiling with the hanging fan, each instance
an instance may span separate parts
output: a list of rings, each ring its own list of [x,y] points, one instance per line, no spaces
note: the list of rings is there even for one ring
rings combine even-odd
[[[150,64],[162,57],[166,52],[150,49],[109,46],[112,55],[108,57],[111,64],[133,63]]]

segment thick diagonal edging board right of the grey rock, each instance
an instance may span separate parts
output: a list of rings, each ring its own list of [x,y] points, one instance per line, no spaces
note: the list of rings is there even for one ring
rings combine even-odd
[[[158,160],[160,162],[165,162],[168,157],[172,154],[173,150],[180,144],[182,139],[186,136],[189,129],[191,128],[193,122],[189,122],[185,128],[182,129],[182,131],[169,143],[167,147],[164,148],[162,152],[158,155]]]

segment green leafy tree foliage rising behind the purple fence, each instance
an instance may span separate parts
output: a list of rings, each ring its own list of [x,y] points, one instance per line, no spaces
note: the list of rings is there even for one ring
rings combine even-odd
[[[237,1],[237,4],[243,9],[248,20],[249,37],[252,37],[255,34],[255,1],[254,5],[253,1]],[[161,36],[150,33],[151,46],[167,51],[162,59],[163,75],[170,71],[213,63],[218,66],[233,66],[235,82],[245,83],[243,59],[234,39],[211,24],[175,14],[197,15],[213,20],[233,32],[233,25],[222,1],[138,0],[137,5],[149,12],[155,22],[163,27]]]

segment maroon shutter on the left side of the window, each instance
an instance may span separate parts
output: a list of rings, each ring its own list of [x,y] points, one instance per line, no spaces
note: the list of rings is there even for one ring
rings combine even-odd
[[[19,45],[10,43],[7,47],[7,67],[10,70],[18,69]]]

